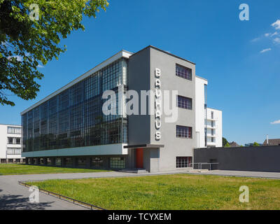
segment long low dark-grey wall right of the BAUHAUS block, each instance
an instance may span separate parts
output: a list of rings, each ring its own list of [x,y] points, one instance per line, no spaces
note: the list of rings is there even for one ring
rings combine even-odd
[[[194,156],[195,162],[216,160],[221,170],[280,172],[280,146],[197,148]]]

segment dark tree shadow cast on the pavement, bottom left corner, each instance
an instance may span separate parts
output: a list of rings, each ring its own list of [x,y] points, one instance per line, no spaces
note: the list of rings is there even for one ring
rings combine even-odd
[[[44,210],[51,207],[52,203],[31,203],[29,197],[23,197],[22,195],[0,195],[0,210]]]

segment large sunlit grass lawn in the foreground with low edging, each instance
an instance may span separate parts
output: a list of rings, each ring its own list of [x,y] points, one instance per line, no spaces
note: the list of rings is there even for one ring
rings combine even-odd
[[[280,209],[280,181],[175,174],[31,182],[104,209]],[[239,202],[248,186],[250,202]]]

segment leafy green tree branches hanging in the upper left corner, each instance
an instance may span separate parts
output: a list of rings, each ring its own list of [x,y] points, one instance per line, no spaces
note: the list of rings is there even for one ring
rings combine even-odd
[[[60,40],[85,29],[83,16],[95,18],[108,5],[106,0],[0,0],[0,104],[14,106],[10,94],[34,99],[36,80],[43,78],[38,66],[65,52]]]

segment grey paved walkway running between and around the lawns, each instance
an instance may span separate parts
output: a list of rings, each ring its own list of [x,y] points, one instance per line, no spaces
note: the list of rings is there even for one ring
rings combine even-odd
[[[94,173],[75,173],[75,174],[27,174],[0,176],[0,210],[11,209],[36,209],[36,210],[79,210],[86,209],[76,204],[71,204],[56,197],[40,193],[39,203],[29,202],[29,188],[20,186],[18,181],[38,181],[48,179],[84,179],[84,178],[102,178],[102,177],[122,177],[122,176],[151,176],[162,174],[201,174],[201,175],[219,175],[219,176],[246,176],[259,177],[267,179],[280,179],[280,173],[269,172],[239,172],[214,170],[209,172],[196,172],[188,169],[177,169],[173,172],[158,172],[154,174],[132,174],[123,172],[94,172]]]

